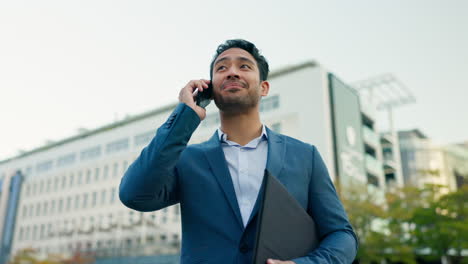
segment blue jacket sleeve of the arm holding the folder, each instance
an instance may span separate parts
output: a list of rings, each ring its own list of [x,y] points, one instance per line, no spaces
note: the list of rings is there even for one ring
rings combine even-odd
[[[320,244],[307,256],[292,261],[296,264],[352,263],[358,239],[319,152],[315,147],[313,150],[308,212],[315,221]]]

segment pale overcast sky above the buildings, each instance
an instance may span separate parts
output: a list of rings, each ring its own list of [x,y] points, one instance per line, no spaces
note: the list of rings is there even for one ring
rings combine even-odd
[[[468,140],[468,1],[1,1],[0,160],[176,102],[216,46],[275,70],[316,60],[347,83],[393,73],[398,129]],[[274,89],[274,87],[272,87]]]

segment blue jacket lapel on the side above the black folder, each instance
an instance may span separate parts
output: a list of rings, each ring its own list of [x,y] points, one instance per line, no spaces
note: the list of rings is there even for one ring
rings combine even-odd
[[[271,131],[268,127],[267,134],[268,134],[268,157],[267,157],[267,164],[266,169],[270,172],[271,175],[279,179],[281,170],[283,169],[283,162],[284,162],[284,155],[286,153],[286,145],[284,139],[276,134],[275,132]],[[252,219],[257,215],[259,207],[261,205],[261,201],[259,201],[259,197],[263,197],[263,184],[262,188],[257,196],[257,201],[255,202],[254,208],[252,213],[250,214],[249,221],[247,225],[252,221]]]

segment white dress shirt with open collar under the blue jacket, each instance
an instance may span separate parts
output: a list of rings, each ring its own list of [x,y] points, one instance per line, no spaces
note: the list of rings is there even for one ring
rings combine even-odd
[[[218,129],[218,136],[245,227],[262,185],[268,156],[268,135],[263,125],[262,134],[245,146],[227,140],[228,135],[221,129]]]

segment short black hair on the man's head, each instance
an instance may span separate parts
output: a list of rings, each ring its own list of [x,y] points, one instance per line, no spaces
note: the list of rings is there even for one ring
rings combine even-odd
[[[213,56],[213,60],[210,64],[210,79],[213,79],[213,66],[216,61],[216,58],[218,58],[218,56],[221,53],[232,48],[240,48],[250,53],[250,55],[252,55],[252,57],[254,57],[255,61],[257,62],[258,70],[260,72],[260,81],[266,81],[266,79],[268,78],[268,72],[270,71],[268,68],[267,60],[265,59],[265,57],[263,57],[262,54],[260,54],[260,51],[257,49],[257,47],[255,47],[255,45],[252,42],[249,42],[244,39],[229,39],[218,46],[218,48],[216,49],[216,54]]]

